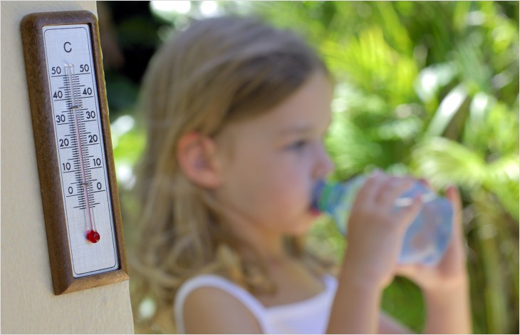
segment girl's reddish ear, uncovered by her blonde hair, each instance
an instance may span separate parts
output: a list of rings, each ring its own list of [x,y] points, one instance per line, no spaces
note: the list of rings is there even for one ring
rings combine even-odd
[[[204,135],[183,135],[177,143],[177,160],[184,175],[202,187],[215,188],[221,185],[216,149],[214,141]]]

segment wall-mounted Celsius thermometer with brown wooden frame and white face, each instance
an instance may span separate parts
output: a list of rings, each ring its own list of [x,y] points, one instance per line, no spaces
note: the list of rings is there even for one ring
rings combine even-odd
[[[128,279],[97,20],[29,14],[21,33],[54,292]]]

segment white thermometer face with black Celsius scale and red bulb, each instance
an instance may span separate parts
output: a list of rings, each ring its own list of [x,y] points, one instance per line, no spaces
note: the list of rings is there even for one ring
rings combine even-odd
[[[43,26],[73,277],[118,269],[88,24]]]

